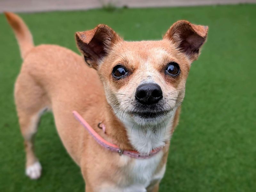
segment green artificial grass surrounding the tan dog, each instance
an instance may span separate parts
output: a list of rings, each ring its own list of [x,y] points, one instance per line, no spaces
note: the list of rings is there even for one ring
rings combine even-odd
[[[126,40],[160,39],[180,19],[208,25],[208,41],[188,77],[160,191],[249,192],[256,190],[255,10],[254,4],[20,15],[36,44],[59,44],[76,52],[74,33],[99,23]],[[80,170],[62,146],[51,114],[43,116],[36,137],[43,176],[31,181],[24,175],[13,103],[21,59],[3,14],[0,23],[0,191],[83,191]]]

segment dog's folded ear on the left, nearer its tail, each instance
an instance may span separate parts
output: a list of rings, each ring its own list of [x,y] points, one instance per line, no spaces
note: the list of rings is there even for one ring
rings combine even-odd
[[[85,62],[96,70],[111,47],[120,40],[113,29],[102,24],[89,31],[76,32],[76,44]]]

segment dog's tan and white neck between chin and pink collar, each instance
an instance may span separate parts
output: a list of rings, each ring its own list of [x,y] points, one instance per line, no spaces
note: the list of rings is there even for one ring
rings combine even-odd
[[[115,111],[109,108],[102,109],[101,114],[104,118],[101,121],[106,125],[106,139],[122,149],[148,154],[170,140],[175,111],[169,118],[154,125],[136,124],[130,116],[119,118],[115,115]]]

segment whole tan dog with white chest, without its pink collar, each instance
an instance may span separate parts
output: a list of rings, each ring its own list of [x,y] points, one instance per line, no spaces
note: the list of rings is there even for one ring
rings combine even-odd
[[[32,138],[42,113],[51,110],[65,148],[81,167],[86,192],[158,191],[189,68],[208,27],[183,20],[174,23],[163,40],[127,42],[108,26],[98,25],[76,33],[81,57],[57,45],[35,47],[25,23],[13,13],[5,15],[24,60],[15,102],[28,177],[41,175]],[[74,118],[73,110],[120,149],[144,155],[161,150],[143,159],[110,151]]]

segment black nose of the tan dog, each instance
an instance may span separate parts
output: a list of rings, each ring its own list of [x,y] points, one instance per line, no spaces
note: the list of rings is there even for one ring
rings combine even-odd
[[[142,104],[154,104],[163,98],[163,92],[158,84],[142,84],[138,86],[135,98]]]

